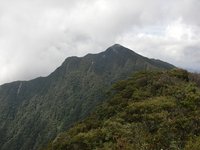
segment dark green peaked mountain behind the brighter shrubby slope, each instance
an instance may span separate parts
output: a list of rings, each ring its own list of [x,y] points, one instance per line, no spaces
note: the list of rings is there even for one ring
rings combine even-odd
[[[36,150],[82,120],[111,84],[136,71],[173,65],[115,44],[99,54],[69,57],[47,77],[0,86],[0,149]]]

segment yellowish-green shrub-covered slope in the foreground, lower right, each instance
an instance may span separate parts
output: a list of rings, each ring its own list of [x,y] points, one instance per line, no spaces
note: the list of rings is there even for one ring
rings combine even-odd
[[[114,84],[106,102],[46,150],[198,150],[199,127],[200,88],[187,71],[141,72]]]

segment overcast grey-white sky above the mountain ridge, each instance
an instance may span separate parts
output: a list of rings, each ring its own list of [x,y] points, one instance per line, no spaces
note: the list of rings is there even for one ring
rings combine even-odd
[[[200,0],[0,0],[0,84],[119,43],[200,71]]]

